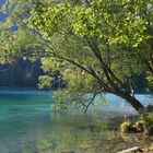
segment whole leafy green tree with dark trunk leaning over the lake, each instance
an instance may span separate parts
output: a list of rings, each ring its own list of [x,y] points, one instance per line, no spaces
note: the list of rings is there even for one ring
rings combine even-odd
[[[30,2],[31,15],[24,23],[44,39],[42,62],[48,76],[40,81],[48,84],[60,71],[66,83],[58,91],[60,106],[74,103],[86,111],[97,95],[109,92],[136,110],[144,109],[134,97],[132,81],[149,68],[152,55],[152,0]]]

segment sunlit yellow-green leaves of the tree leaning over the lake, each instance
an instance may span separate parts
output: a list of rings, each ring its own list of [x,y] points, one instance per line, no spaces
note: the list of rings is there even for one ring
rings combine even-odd
[[[94,70],[104,83],[109,84],[99,60],[92,51],[92,45],[97,45],[105,64],[109,64],[113,73],[126,83],[146,69],[139,58],[148,59],[150,51],[150,3],[151,0],[94,0],[87,3],[50,1],[46,5],[42,1],[32,10],[30,23],[51,42],[50,50],[46,51],[51,57],[43,59],[43,69],[47,73],[60,70],[67,82],[67,95],[71,93],[71,97],[73,93],[98,91],[102,86],[97,80],[73,66],[79,63],[86,70]],[[93,44],[89,45],[86,39]]]

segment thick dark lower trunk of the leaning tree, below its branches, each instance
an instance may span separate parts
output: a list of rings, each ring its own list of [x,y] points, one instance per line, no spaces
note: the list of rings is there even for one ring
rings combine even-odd
[[[130,104],[139,114],[144,111],[145,107],[136,97],[129,94],[125,94],[123,92],[116,93],[116,95],[126,99],[127,103]]]

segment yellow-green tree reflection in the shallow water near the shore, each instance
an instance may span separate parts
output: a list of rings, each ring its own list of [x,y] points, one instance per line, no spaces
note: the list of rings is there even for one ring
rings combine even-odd
[[[153,142],[142,134],[121,134],[114,130],[120,119],[96,121],[92,115],[64,111],[51,114],[50,120],[54,125],[35,131],[35,141],[23,143],[15,153],[116,153]]]

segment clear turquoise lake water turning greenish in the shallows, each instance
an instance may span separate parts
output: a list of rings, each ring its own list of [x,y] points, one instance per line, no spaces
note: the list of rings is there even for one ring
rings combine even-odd
[[[145,105],[151,95],[138,95]],[[116,126],[136,115],[123,101],[107,95],[108,104],[82,110],[51,110],[49,92],[0,90],[0,153],[116,153],[151,143],[152,138],[122,136]]]

